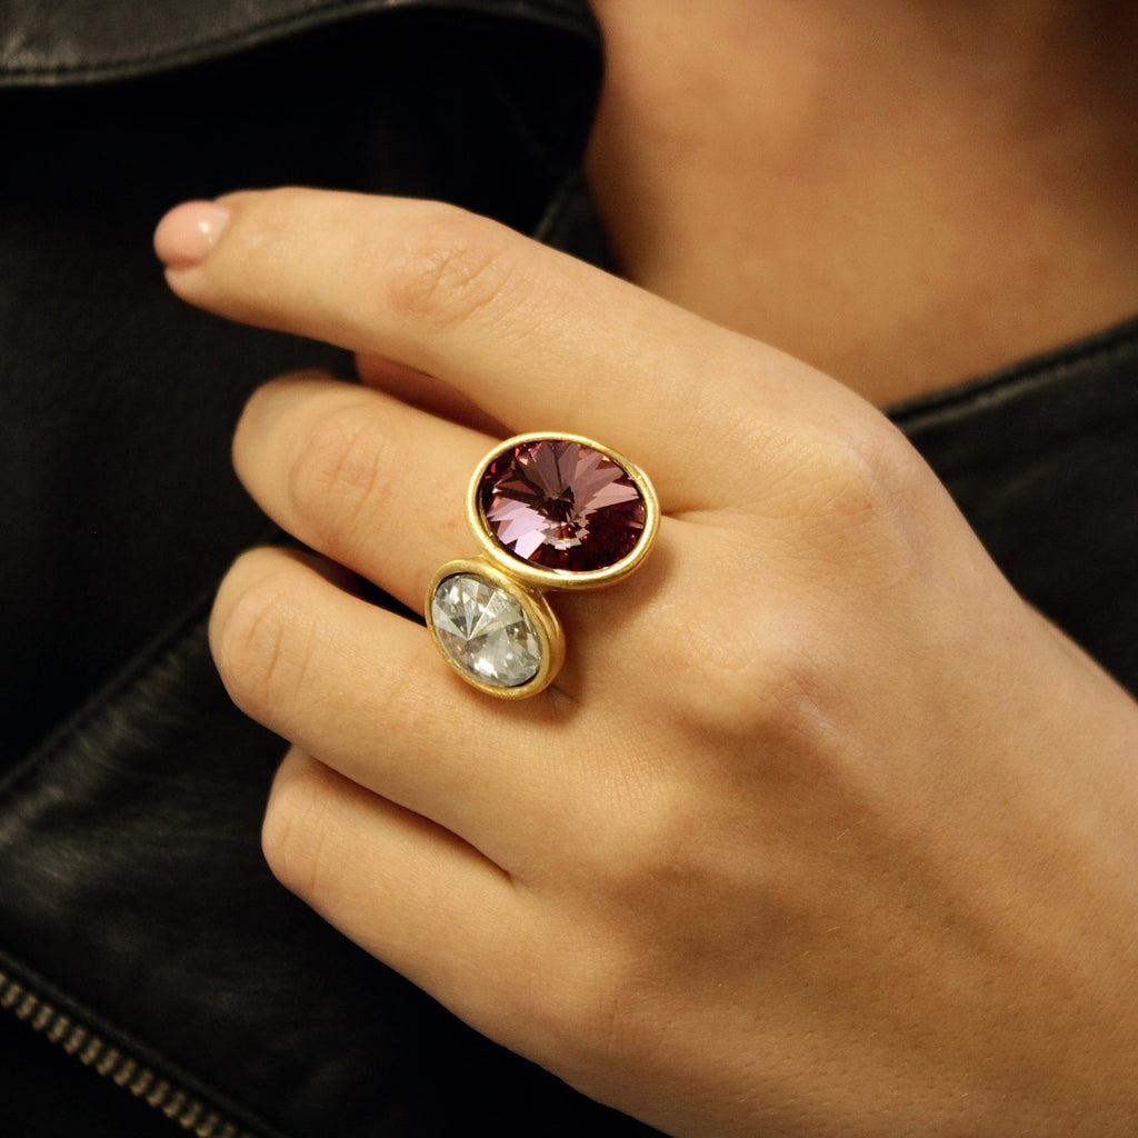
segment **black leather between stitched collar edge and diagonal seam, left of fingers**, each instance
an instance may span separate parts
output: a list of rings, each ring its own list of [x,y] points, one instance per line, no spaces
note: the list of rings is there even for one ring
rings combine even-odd
[[[349,373],[172,297],[151,249],[171,205],[299,183],[442,197],[553,241],[589,230],[596,41],[554,35],[542,5],[480,7],[501,25],[403,5],[149,80],[0,92],[0,535],[18,551],[0,559],[0,768],[266,534],[229,472],[253,388]]]

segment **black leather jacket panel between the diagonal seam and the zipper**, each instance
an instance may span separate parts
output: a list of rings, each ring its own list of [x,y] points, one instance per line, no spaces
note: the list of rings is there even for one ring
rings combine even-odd
[[[258,833],[280,756],[195,615],[0,792],[8,960],[254,1135],[632,1132],[277,885]]]

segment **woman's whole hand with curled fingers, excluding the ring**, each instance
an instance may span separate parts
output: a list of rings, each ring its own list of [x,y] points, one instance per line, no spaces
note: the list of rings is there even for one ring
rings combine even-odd
[[[242,193],[157,246],[187,300],[365,357],[261,389],[236,462],[406,605],[475,551],[492,434],[594,437],[666,514],[637,576],[553,599],[568,660],[523,703],[328,562],[242,558],[213,645],[294,744],[290,889],[676,1135],[1138,1130],[1138,710],[883,417],[445,206]]]

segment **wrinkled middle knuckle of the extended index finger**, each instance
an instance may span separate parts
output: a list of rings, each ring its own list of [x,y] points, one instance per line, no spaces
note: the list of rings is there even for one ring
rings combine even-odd
[[[516,274],[504,226],[452,207],[409,229],[387,265],[391,310],[428,329],[460,325],[494,304]]]

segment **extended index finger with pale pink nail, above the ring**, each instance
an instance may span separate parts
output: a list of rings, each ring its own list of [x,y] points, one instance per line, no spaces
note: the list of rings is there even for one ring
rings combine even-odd
[[[183,298],[440,376],[511,430],[599,438],[642,463],[677,509],[710,505],[709,486],[716,505],[732,485],[749,493],[739,457],[758,417],[747,410],[769,413],[787,382],[811,374],[452,207],[311,190],[221,206],[221,228],[218,206],[200,205],[159,226]],[[214,211],[216,240],[187,261],[179,234],[201,208]],[[733,434],[735,447],[702,443]]]

